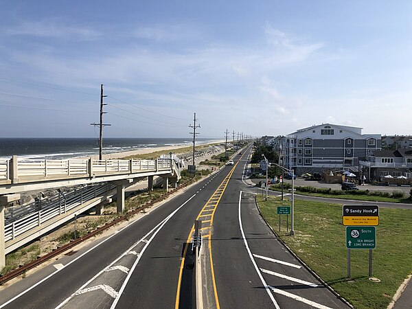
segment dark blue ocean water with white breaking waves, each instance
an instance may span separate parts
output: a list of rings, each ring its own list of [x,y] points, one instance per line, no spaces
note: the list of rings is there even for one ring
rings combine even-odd
[[[211,139],[196,138],[197,144],[206,144]],[[106,138],[103,139],[103,154],[156,148],[163,146],[192,145],[190,138]],[[94,138],[0,138],[0,159],[17,155],[23,159],[67,159],[93,157],[99,153],[98,139]]]

